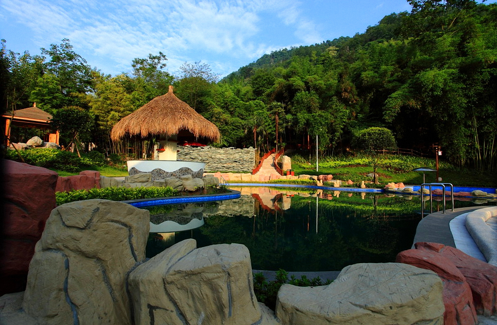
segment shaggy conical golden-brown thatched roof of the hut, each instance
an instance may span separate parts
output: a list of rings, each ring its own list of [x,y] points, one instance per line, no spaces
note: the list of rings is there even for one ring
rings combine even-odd
[[[166,95],[152,99],[117,122],[110,136],[116,141],[126,135],[171,136],[180,130],[188,130],[195,137],[206,137],[213,141],[219,141],[221,137],[221,133],[213,123],[178,99],[172,93],[172,86],[169,86]]]

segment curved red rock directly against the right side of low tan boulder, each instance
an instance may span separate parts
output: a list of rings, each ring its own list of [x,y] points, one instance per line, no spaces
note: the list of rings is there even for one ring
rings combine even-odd
[[[443,314],[445,325],[473,325],[478,323],[469,284],[459,269],[441,254],[415,249],[401,252],[396,262],[429,269],[443,281]]]

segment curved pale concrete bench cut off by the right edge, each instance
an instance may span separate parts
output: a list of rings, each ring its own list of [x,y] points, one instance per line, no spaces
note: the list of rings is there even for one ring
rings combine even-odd
[[[487,224],[487,220],[495,216],[497,206],[472,211],[466,216],[466,229],[489,264],[497,266],[497,232]]]

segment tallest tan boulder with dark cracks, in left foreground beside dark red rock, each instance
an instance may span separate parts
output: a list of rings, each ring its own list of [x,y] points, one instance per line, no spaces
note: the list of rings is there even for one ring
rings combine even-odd
[[[92,199],[52,210],[29,264],[23,309],[50,324],[131,324],[128,273],[145,261],[149,211]]]

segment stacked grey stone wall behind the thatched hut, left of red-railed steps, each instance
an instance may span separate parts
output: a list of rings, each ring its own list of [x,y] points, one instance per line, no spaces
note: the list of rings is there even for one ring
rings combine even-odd
[[[205,163],[205,171],[251,172],[255,164],[255,150],[215,148],[211,146],[178,146],[178,160],[199,161]]]

